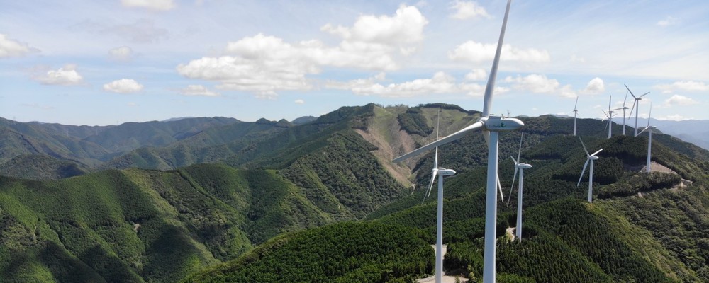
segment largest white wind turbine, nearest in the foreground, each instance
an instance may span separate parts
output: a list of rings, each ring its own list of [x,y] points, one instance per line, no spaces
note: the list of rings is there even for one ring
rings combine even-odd
[[[492,108],[492,97],[495,88],[495,80],[497,77],[498,64],[500,62],[500,53],[502,52],[502,43],[505,38],[505,28],[507,26],[507,18],[510,13],[510,4],[512,0],[507,1],[507,8],[505,11],[505,18],[503,18],[502,28],[500,31],[500,38],[497,43],[497,49],[495,51],[495,58],[493,59],[492,68],[490,71],[490,76],[488,78],[487,85],[485,87],[485,96],[483,104],[483,112],[480,120],[474,122],[472,125],[460,129],[458,132],[443,137],[437,141],[430,144],[422,146],[414,151],[399,156],[394,159],[394,162],[400,162],[411,158],[413,156],[418,156],[424,151],[428,151],[436,146],[442,144],[448,144],[451,141],[460,139],[465,134],[475,130],[481,129],[483,131],[484,137],[488,143],[488,171],[487,171],[487,185],[486,185],[486,202],[485,202],[485,248],[484,248],[484,266],[483,266],[483,282],[484,283],[494,283],[496,282],[496,222],[497,222],[497,186],[498,186],[498,137],[499,132],[513,131],[524,126],[524,123],[515,118],[502,118],[500,116],[490,115],[490,108]]]

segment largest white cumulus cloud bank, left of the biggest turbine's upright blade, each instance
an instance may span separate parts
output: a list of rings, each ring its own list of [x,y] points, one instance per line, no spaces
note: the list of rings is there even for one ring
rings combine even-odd
[[[220,57],[179,64],[189,79],[218,81],[219,89],[250,91],[275,99],[278,91],[308,90],[306,78],[323,67],[393,70],[397,58],[415,52],[428,21],[414,6],[400,6],[393,16],[359,16],[352,27],[328,23],[320,30],[341,38],[337,46],[320,40],[284,42],[258,34],[229,42]]]

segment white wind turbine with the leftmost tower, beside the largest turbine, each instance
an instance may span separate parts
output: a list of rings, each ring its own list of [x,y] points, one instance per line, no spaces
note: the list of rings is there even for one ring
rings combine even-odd
[[[438,129],[440,128],[440,115],[438,110],[438,122],[436,125],[436,140],[438,140]],[[431,182],[428,185],[428,191],[423,195],[425,200],[431,194],[433,182],[438,175],[438,207],[436,212],[436,283],[443,281],[443,176],[455,175],[452,169],[438,167],[438,147],[436,146],[435,157],[433,158],[433,169],[431,170]]]

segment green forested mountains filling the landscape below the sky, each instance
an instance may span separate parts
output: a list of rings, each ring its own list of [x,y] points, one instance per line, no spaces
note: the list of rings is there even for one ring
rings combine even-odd
[[[196,132],[174,126],[173,135],[189,134],[165,145],[157,133],[167,130],[155,125],[146,127],[155,139],[121,136],[115,143],[89,141],[90,134],[79,139],[81,129],[67,139],[37,125],[0,127],[14,134],[4,152],[25,152],[18,149],[33,143],[22,137],[39,145],[43,135],[50,149],[76,139],[85,146],[75,149],[91,144],[108,155],[109,144],[145,144],[76,167],[66,167],[67,160],[79,161],[69,150],[7,158],[4,163],[16,160],[7,164],[35,164],[13,176],[34,168],[43,173],[30,176],[35,180],[0,178],[0,274],[8,282],[409,282],[428,276],[435,198],[422,200],[433,156],[406,164],[391,159],[435,139],[439,110],[441,136],[479,117],[457,105],[369,104],[299,125],[235,121]],[[604,122],[578,120],[588,149],[604,149],[588,204],[587,175],[576,186],[586,156],[571,137],[573,120],[520,119],[525,127],[500,135],[506,200],[498,207],[498,282],[709,282],[709,151],[654,134],[654,170],[667,172],[640,173],[646,135],[605,139]],[[506,156],[517,154],[520,134],[522,160],[534,167],[525,171],[523,241],[517,242],[504,236],[516,217],[516,202],[507,201],[514,168]],[[486,152],[481,135],[469,134],[441,146],[439,156],[441,166],[458,172],[445,183],[445,269],[473,282],[482,271]],[[79,176],[66,178],[72,175]]]

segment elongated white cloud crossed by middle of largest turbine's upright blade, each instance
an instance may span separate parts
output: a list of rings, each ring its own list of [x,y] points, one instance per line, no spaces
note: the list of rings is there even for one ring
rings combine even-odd
[[[455,47],[452,52],[448,52],[448,58],[462,62],[482,62],[494,59],[496,49],[496,44],[484,44],[469,40]],[[551,58],[547,50],[520,49],[508,44],[502,45],[500,56],[501,60],[518,62],[549,62]]]

